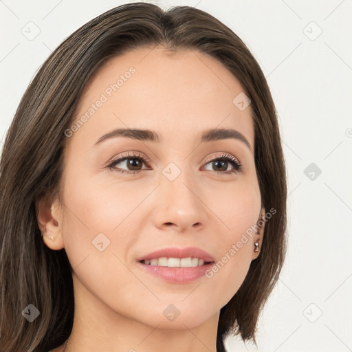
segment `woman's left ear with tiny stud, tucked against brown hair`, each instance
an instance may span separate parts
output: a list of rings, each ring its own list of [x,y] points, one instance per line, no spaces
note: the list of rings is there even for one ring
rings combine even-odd
[[[52,250],[65,247],[61,228],[61,208],[58,197],[43,195],[36,201],[36,219],[43,241]]]

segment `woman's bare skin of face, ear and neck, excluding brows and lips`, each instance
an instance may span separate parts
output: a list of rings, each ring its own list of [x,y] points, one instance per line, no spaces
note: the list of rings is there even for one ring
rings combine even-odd
[[[102,93],[108,99],[67,137],[60,199],[37,205],[46,245],[65,248],[74,268],[66,351],[216,351],[219,311],[259,255],[254,242],[261,243],[263,228],[211,278],[170,283],[137,261],[167,247],[201,248],[220,261],[263,214],[250,108],[232,102],[243,87],[205,54],[151,49],[112,58],[89,82],[77,119]],[[107,87],[129,67],[135,73],[109,97]],[[161,140],[120,136],[94,146],[114,129],[149,129]],[[234,129],[249,146],[238,138],[199,143],[207,129]],[[139,170],[126,161],[108,167],[127,153],[137,154]],[[235,157],[241,170],[230,161],[219,169],[223,155]],[[164,168],[179,175],[170,181]],[[102,252],[92,244],[100,233],[110,241]],[[179,311],[173,321],[163,314],[170,304]]]

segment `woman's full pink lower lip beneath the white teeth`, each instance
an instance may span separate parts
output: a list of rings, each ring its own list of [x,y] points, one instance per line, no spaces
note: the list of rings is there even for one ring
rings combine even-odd
[[[142,265],[144,270],[171,283],[190,283],[195,281],[197,278],[204,276],[205,272],[214,265],[214,263],[208,263],[199,267],[161,267],[138,263]]]

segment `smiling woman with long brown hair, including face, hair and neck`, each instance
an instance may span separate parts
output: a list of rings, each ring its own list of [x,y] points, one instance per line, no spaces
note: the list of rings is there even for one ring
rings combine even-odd
[[[206,12],[129,3],[69,36],[1,157],[1,338],[12,351],[225,351],[285,256],[263,72]]]

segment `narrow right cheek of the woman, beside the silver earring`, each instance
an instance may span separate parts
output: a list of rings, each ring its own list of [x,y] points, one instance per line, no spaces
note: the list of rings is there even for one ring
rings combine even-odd
[[[206,278],[212,282],[214,297],[222,297],[225,305],[243,283],[252,261],[254,226],[261,210],[259,187],[252,184],[233,188],[217,204],[219,219],[226,228],[218,233],[219,255]]]

